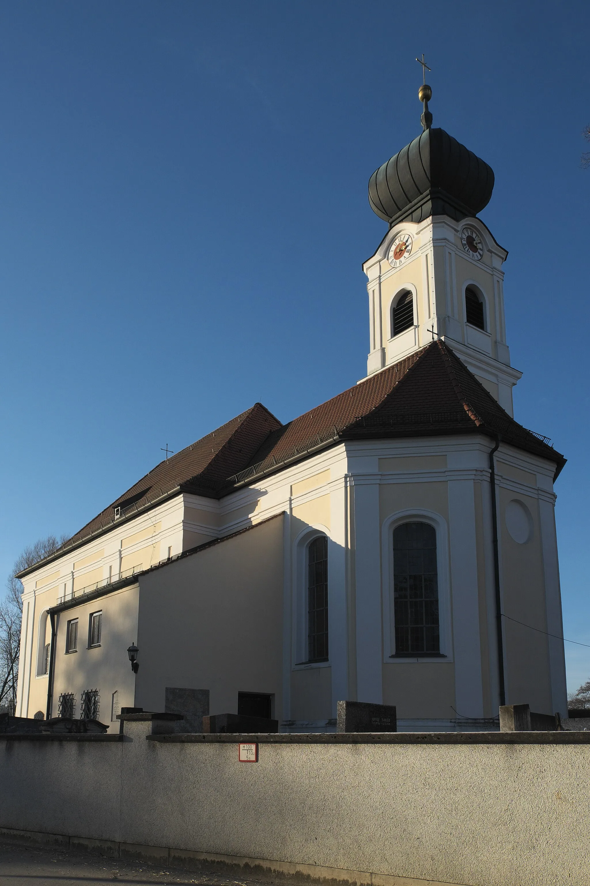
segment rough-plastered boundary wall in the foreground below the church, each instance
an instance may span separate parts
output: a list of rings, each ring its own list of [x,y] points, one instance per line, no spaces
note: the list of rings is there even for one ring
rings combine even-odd
[[[325,882],[588,882],[590,733],[278,734],[239,763],[244,736],[152,725],[0,736],[0,827]]]

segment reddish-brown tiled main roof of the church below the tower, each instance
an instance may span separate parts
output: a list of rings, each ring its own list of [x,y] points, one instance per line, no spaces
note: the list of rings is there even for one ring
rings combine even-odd
[[[504,442],[553,462],[556,475],[565,463],[563,455],[502,409],[445,342],[434,341],[288,424],[256,403],[160,462],[76,532],[57,556],[111,529],[115,508],[119,519],[130,519],[172,494],[221,498],[236,484],[280,470],[331,441],[464,433],[500,434]]]

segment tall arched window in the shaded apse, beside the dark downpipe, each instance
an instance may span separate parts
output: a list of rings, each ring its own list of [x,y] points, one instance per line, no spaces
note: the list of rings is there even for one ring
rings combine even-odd
[[[394,531],[395,655],[439,654],[436,530],[402,523]]]

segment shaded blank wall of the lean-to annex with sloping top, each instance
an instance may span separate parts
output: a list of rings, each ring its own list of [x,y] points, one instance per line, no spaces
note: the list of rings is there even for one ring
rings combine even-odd
[[[162,711],[165,688],[210,690],[212,714],[238,691],[281,711],[283,517],[142,576],[135,704]]]

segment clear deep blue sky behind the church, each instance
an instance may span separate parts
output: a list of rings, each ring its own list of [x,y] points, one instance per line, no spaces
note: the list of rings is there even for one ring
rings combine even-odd
[[[262,400],[364,376],[372,171],[434,126],[494,168],[517,420],[590,645],[587,3],[0,4],[0,571]],[[590,648],[566,643],[568,682]]]

